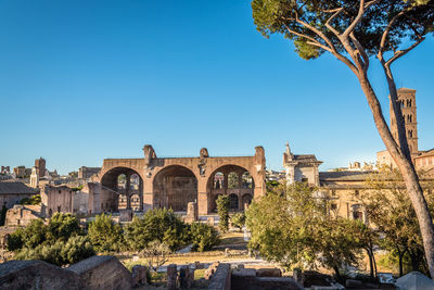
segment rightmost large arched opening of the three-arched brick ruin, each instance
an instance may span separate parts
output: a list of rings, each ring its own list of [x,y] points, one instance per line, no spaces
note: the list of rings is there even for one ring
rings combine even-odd
[[[221,187],[216,186],[216,180],[222,180]],[[246,196],[251,202],[253,199],[253,192],[255,182],[248,171],[238,165],[224,165],[217,168],[208,178],[207,182],[207,196],[208,196],[208,212],[217,212],[216,200],[219,194],[234,194],[230,209],[232,211],[243,211],[244,202],[242,197]]]

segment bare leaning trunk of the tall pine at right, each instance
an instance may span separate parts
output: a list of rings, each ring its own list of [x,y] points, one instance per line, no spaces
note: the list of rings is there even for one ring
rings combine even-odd
[[[391,130],[388,129],[388,126],[384,119],[380,102],[371,87],[371,84],[369,83],[368,76],[366,75],[366,73],[360,73],[358,78],[361,89],[363,90],[365,96],[368,100],[368,104],[372,111],[373,119],[380,137],[382,138],[387,151],[394,159],[403,175],[404,182],[407,188],[407,193],[418,216],[430,274],[431,277],[434,277],[434,228],[432,217],[426,201],[423,197],[423,191],[420,186],[414,166],[411,162],[411,159],[407,154],[403,153],[399,146],[394,140]]]

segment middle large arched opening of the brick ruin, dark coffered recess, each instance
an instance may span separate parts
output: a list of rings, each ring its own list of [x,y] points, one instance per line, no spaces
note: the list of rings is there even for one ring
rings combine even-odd
[[[158,172],[153,189],[154,207],[187,212],[187,204],[197,201],[197,178],[189,168],[180,165],[171,165]]]

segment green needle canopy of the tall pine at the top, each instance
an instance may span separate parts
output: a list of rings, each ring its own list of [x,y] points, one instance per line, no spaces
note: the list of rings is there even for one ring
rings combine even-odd
[[[353,34],[368,56],[397,51],[406,40],[420,40],[433,31],[434,7],[431,0],[382,0],[360,1],[297,1],[254,0],[253,18],[257,30],[268,37],[282,34],[294,41],[296,52],[303,59],[316,59],[323,52],[346,52],[345,46],[357,48],[357,43],[343,43],[339,34]],[[362,13],[362,17],[360,17]],[[388,31],[384,47],[381,39],[384,29],[394,17],[398,17]],[[349,29],[348,29],[349,28]]]

